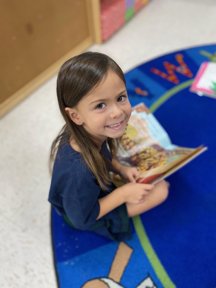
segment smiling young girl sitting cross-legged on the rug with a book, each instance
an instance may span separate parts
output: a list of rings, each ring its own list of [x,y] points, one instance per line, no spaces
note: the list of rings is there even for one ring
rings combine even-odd
[[[118,241],[130,238],[129,217],[168,196],[164,181],[135,182],[135,167],[116,159],[118,139],[131,116],[126,81],[108,56],[86,52],[66,61],[57,78],[57,98],[66,124],[53,141],[49,202],[72,227]],[[109,171],[129,183],[116,188]]]

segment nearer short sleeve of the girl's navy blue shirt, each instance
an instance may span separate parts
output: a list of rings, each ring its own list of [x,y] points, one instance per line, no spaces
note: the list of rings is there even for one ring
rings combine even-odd
[[[86,165],[73,162],[66,176],[62,205],[75,228],[89,229],[100,212],[100,186]]]

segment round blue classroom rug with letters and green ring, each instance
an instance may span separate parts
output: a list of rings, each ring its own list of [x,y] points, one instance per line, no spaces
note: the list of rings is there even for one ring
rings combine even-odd
[[[173,144],[209,149],[168,178],[168,199],[131,219],[132,239],[116,242],[69,227],[52,209],[59,288],[216,287],[216,99],[189,92],[216,45],[173,52],[129,71],[131,105],[144,102]]]

